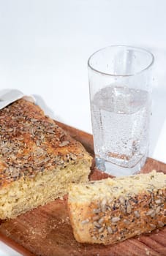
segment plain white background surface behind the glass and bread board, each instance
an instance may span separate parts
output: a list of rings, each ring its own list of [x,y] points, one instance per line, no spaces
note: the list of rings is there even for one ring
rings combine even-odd
[[[0,0],[0,89],[34,94],[50,116],[91,132],[88,56],[147,48],[156,59],[149,155],[166,162],[165,12],[165,0]]]

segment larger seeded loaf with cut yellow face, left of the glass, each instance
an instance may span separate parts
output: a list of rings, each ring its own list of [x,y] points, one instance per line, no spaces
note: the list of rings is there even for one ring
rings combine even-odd
[[[0,219],[14,218],[88,181],[91,157],[34,103],[0,110]]]

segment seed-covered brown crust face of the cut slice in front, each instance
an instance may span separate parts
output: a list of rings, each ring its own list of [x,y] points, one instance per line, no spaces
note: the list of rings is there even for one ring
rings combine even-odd
[[[105,180],[100,182],[105,185]],[[79,202],[75,189],[74,185],[69,189],[68,210],[75,239],[80,243],[114,244],[166,224],[166,188],[116,198],[100,195],[90,202]]]

